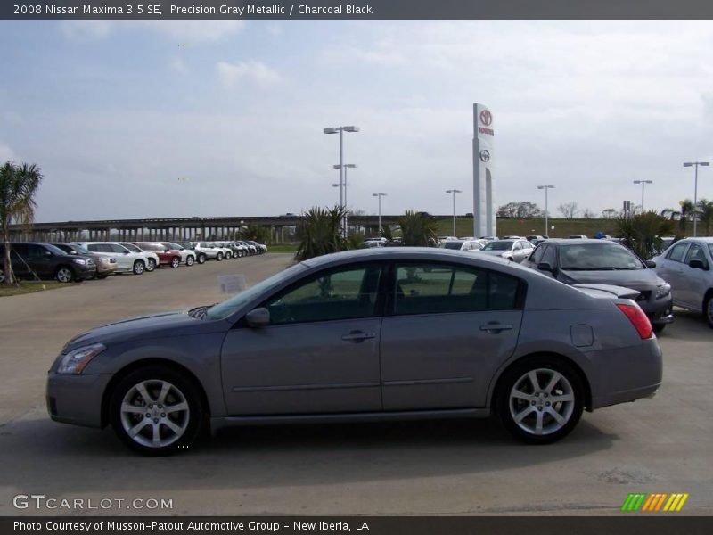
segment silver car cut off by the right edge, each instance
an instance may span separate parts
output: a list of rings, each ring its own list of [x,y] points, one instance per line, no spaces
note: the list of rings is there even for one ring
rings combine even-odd
[[[671,284],[674,304],[701,312],[713,328],[713,238],[686,238],[653,259]]]

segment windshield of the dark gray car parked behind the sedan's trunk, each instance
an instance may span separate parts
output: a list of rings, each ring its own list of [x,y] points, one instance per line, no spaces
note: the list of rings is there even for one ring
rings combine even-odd
[[[578,243],[560,247],[560,268],[579,271],[645,269],[626,247],[613,243]]]

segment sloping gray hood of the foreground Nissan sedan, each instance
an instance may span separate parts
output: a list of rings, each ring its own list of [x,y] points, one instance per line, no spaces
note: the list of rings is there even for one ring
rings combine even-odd
[[[72,338],[61,352],[66,353],[78,347],[99,342],[109,346],[112,343],[142,338],[161,338],[177,333],[182,336],[193,333],[210,333],[225,330],[225,328],[227,328],[225,321],[191,317],[188,315],[188,310],[176,310],[149,316],[132,317],[96,327]]]

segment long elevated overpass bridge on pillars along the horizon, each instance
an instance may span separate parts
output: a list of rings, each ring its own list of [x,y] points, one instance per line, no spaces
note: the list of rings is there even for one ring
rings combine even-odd
[[[382,225],[397,225],[401,216],[381,216]],[[435,219],[451,219],[450,216],[431,216]],[[299,215],[267,217],[225,217],[225,218],[147,218],[147,219],[105,219],[98,221],[58,221],[35,223],[27,228],[10,226],[13,242],[78,242],[78,241],[186,241],[207,239],[228,239],[243,226],[258,225],[269,230],[272,243],[285,241],[285,229],[291,231],[299,224]],[[349,226],[364,228],[367,233],[376,234],[379,228],[378,216],[351,216]],[[289,236],[289,232],[288,232]]]

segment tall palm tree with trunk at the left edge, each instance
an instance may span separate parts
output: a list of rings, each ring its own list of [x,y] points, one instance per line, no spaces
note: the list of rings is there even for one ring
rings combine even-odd
[[[0,234],[4,243],[4,284],[13,284],[10,264],[10,226],[29,226],[35,220],[35,193],[42,182],[42,173],[35,165],[10,161],[0,167]]]

